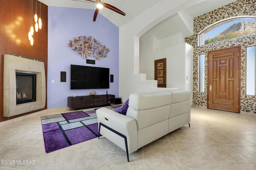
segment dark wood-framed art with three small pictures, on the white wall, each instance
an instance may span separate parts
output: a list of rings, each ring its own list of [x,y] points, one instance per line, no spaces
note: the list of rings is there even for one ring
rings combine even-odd
[[[155,60],[155,80],[157,87],[166,87],[166,58]]]

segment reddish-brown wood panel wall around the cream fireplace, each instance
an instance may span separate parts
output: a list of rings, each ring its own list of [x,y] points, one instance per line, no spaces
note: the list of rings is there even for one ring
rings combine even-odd
[[[28,31],[30,29],[32,19],[33,26],[35,23],[34,16],[32,19],[30,16],[30,3],[32,1],[34,15],[36,11],[36,0],[0,0],[0,122],[36,112],[28,112],[13,117],[3,117],[4,54],[17,54],[42,60],[45,66],[45,77],[47,82],[48,6],[41,3],[42,29],[39,29],[38,32],[34,33],[34,45],[31,46],[30,41],[28,40]],[[39,18],[39,1],[37,1],[37,14]],[[46,108],[47,101],[44,109]]]

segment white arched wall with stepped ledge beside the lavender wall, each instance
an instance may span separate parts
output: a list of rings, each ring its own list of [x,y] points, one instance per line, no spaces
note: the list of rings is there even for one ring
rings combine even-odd
[[[202,0],[162,0],[119,28],[119,96],[122,101],[134,92],[156,90],[155,80],[140,81],[142,76],[137,75],[140,71],[139,37],[166,18],[199,2]]]

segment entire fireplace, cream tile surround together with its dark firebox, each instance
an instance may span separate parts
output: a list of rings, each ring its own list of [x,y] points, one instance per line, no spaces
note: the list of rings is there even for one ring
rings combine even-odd
[[[16,73],[24,73],[22,76],[30,79],[31,74],[35,75],[28,80],[29,83],[21,82]],[[29,74],[29,76],[27,75]],[[17,83],[16,83],[17,81]],[[34,82],[34,85],[33,85]],[[27,91],[28,87],[34,89]],[[23,93],[24,92],[24,93]],[[33,97],[34,92],[34,97]],[[23,98],[17,101],[18,98]],[[32,96],[32,97],[31,97]],[[23,113],[28,113],[43,109],[46,104],[46,79],[44,62],[36,59],[17,55],[4,55],[4,117],[12,117]]]

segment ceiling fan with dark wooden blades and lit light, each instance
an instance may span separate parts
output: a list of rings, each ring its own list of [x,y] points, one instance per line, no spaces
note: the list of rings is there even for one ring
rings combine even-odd
[[[93,1],[93,0],[75,0],[75,1],[81,1],[81,2],[88,2],[89,3],[95,3],[96,4],[96,10],[94,12],[94,16],[93,16],[93,21],[95,22],[96,21],[96,18],[97,18],[97,15],[98,15],[98,12],[101,8],[105,7],[105,8],[108,8],[118,14],[121,14],[123,16],[125,16],[125,13],[122,12],[121,10],[119,10],[118,8],[110,5],[110,4],[107,4],[107,3],[104,3],[103,1],[104,0],[96,0],[96,1]]]

